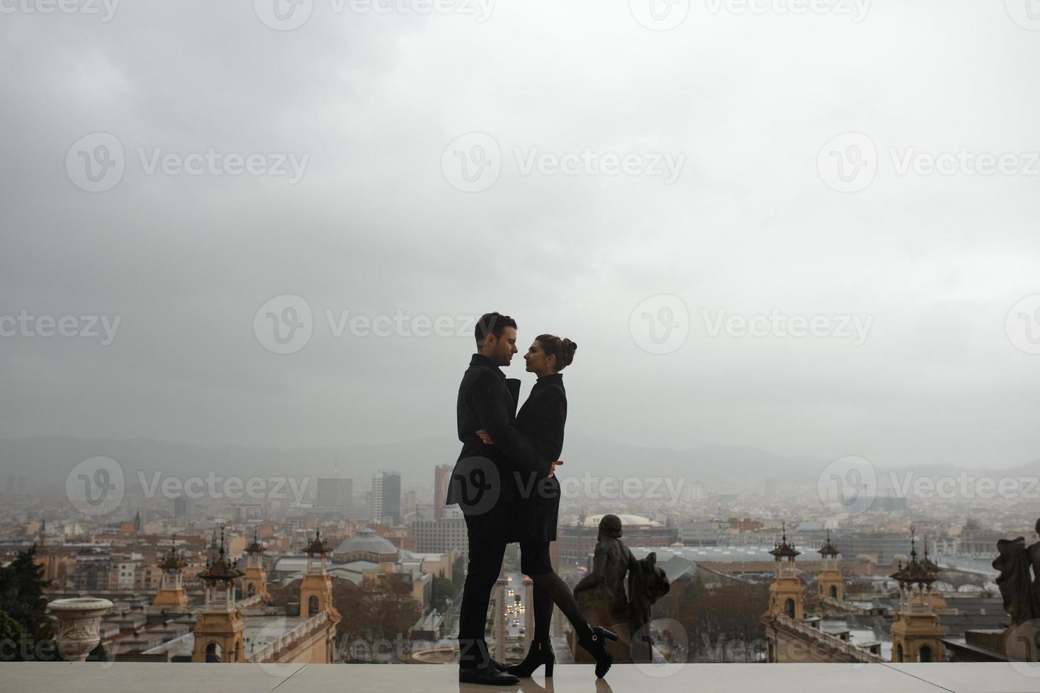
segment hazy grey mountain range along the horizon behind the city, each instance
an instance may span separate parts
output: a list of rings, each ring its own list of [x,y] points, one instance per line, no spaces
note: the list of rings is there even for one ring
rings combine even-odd
[[[152,439],[87,439],[66,436],[36,436],[0,439],[3,476],[24,477],[29,487],[63,485],[69,472],[80,461],[107,456],[116,460],[128,478],[128,489],[136,485],[138,473],[149,480],[161,477],[181,480],[205,477],[330,477],[355,480],[355,494],[370,488],[370,478],[379,469],[401,473],[402,488],[420,491],[433,487],[434,467],[453,463],[458,442],[426,438],[387,442],[379,446],[338,446],[279,449],[270,447],[203,447]],[[600,439],[569,437],[563,455],[564,476],[682,478],[685,483],[727,480],[774,480],[782,484],[812,485],[832,460],[808,456],[786,457],[750,447],[704,446],[684,450],[631,446]],[[876,468],[879,486],[886,486],[890,470]],[[1040,459],[1009,467],[964,469],[951,464],[904,468],[918,477],[968,475],[1040,475]],[[2,483],[2,480],[0,480]]]

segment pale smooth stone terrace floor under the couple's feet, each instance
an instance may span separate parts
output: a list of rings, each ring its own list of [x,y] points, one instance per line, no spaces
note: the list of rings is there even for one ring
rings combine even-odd
[[[380,664],[0,664],[4,693],[936,693],[1040,691],[1040,665],[937,664],[671,664],[615,665],[597,683],[592,665],[557,665],[519,687],[460,685],[451,665]]]

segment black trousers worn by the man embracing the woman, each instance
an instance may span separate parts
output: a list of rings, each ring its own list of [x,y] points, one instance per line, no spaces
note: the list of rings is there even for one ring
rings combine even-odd
[[[506,529],[515,522],[517,507],[517,500],[503,498],[488,512],[465,515],[469,563],[459,609],[459,666],[462,668],[487,664],[487,646],[479,645],[484,642],[491,590],[502,569],[509,538]]]

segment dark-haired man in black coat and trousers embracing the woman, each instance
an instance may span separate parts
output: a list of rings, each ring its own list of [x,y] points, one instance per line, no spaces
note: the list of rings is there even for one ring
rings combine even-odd
[[[459,616],[459,681],[510,686],[519,679],[491,659],[484,639],[491,590],[502,567],[506,530],[515,522],[520,490],[517,475],[540,467],[534,447],[514,428],[520,381],[498,370],[517,353],[517,323],[488,313],[476,323],[477,352],[459,385],[457,416],[462,452],[451,472],[447,504],[466,517],[469,564]],[[495,442],[487,446],[476,431]],[[499,606],[501,608],[501,605]]]

